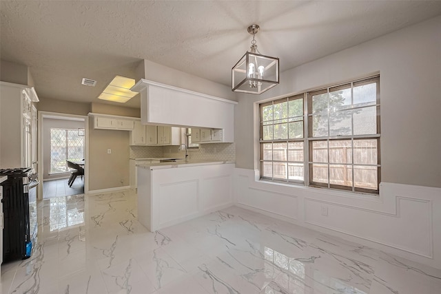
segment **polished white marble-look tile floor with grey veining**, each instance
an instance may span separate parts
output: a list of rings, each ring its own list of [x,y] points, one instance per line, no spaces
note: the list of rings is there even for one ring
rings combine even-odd
[[[441,271],[230,207],[150,233],[133,191],[38,203],[32,257],[1,293],[441,293]]]

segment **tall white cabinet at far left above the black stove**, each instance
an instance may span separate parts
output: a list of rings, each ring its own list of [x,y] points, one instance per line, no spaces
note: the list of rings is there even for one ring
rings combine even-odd
[[[37,112],[33,103],[39,98],[33,87],[0,85],[0,168],[32,167],[32,145],[37,142],[32,133],[37,124],[32,119]]]

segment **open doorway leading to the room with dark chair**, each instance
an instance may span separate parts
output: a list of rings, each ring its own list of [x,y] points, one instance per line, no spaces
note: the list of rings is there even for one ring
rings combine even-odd
[[[38,198],[70,196],[88,191],[88,173],[70,185],[71,169],[66,160],[87,167],[88,116],[39,112],[39,165],[42,185]]]

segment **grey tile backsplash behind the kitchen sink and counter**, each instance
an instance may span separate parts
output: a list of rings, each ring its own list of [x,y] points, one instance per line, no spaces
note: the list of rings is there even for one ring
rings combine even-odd
[[[130,146],[130,158],[184,158],[179,146]],[[234,143],[200,144],[198,151],[188,151],[189,160],[235,161]]]

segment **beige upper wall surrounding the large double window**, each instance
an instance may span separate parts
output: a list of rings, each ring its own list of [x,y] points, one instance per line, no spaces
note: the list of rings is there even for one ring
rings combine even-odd
[[[254,169],[254,101],[380,72],[381,180],[441,187],[441,17],[280,74],[269,92],[240,95],[236,167]],[[283,62],[283,61],[280,61]]]

